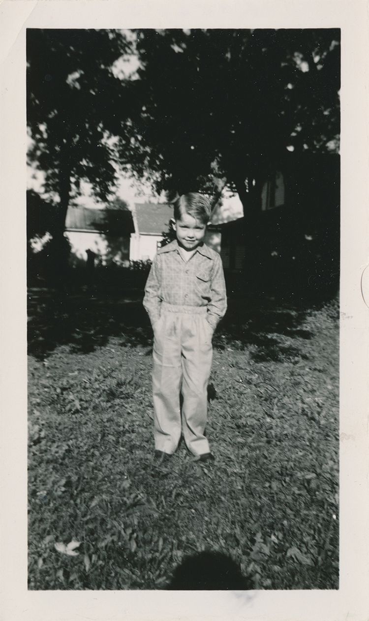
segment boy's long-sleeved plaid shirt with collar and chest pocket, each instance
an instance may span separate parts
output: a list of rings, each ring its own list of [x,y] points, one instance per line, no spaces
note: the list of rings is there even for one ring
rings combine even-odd
[[[189,261],[184,261],[177,240],[160,248],[153,259],[143,298],[143,306],[152,325],[160,317],[162,302],[176,306],[206,306],[207,320],[215,329],[227,310],[219,254],[202,244],[196,248]]]

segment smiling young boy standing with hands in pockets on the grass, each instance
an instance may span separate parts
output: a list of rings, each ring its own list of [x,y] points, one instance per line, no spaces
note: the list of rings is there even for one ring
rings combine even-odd
[[[176,239],[158,250],[145,287],[143,306],[154,333],[154,440],[160,461],[174,453],[181,430],[194,456],[214,459],[204,436],[207,383],[212,335],[227,297],[221,257],[204,243],[209,217],[209,201],[201,194],[176,200]]]

